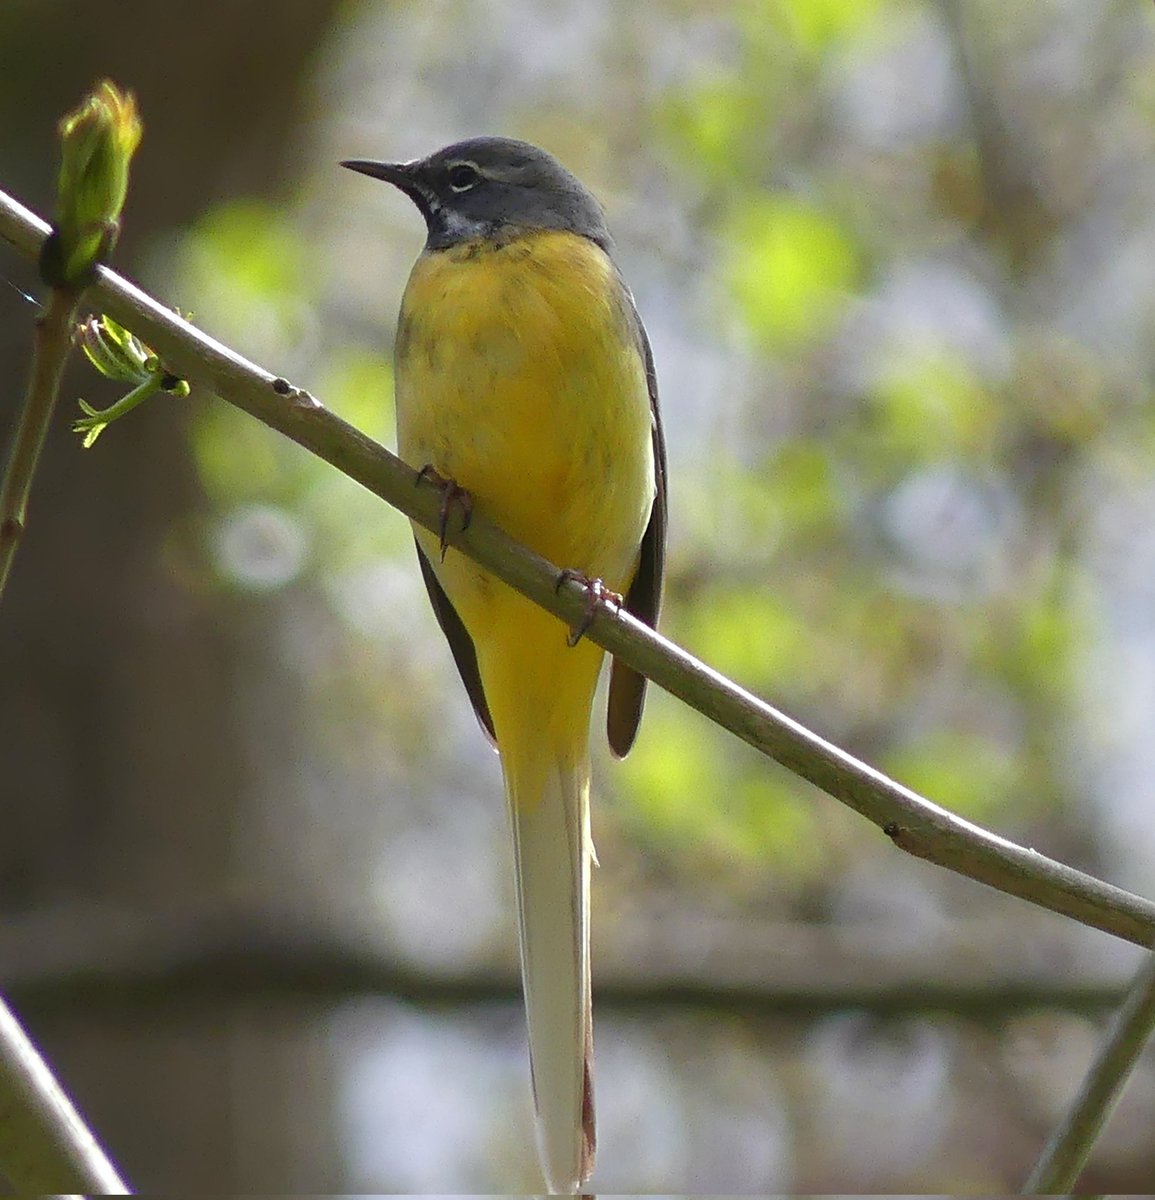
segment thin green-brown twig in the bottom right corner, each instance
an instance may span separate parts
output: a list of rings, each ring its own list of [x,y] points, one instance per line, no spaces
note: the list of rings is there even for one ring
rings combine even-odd
[[[1073,1192],[1091,1148],[1155,1030],[1155,954],[1149,954],[1115,1013],[1075,1103],[1023,1184],[1023,1195]]]

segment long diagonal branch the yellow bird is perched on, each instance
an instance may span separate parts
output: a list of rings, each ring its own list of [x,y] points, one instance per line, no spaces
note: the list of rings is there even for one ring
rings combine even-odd
[[[0,238],[29,257],[48,226],[0,192]],[[439,492],[304,392],[195,329],[139,288],[101,269],[90,293],[146,341],[170,371],[216,392],[435,530]],[[585,613],[576,583],[480,516],[450,545],[570,625]],[[603,611],[592,641],[876,824],[899,850],[1118,937],[1155,943],[1155,904],[999,838],[923,799],[731,683],[628,613]]]

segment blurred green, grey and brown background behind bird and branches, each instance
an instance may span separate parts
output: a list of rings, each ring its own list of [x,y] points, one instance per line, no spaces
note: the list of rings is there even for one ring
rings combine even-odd
[[[665,631],[1155,894],[1151,5],[4,0],[0,187],[47,209],[102,76],[118,265],[385,444],[423,230],[336,161],[561,156],[654,346]],[[498,764],[405,522],[211,396],[86,452],[77,397],[0,610],[6,995],[144,1190],[533,1189]],[[594,1187],[1021,1183],[1133,948],[657,692],[596,793]],[[1148,1056],[1084,1187],[1150,1190],[1153,1128]]]

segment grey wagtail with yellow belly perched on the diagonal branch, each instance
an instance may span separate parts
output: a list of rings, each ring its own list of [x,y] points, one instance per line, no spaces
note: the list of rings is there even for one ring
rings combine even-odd
[[[666,464],[653,356],[602,208],[556,158],[474,138],[414,162],[342,166],[385,180],[429,235],[396,336],[397,442],[567,575],[654,625]],[[547,1186],[593,1168],[590,720],[603,650],[415,529],[433,612],[501,754],[514,833],[521,972]],[[591,608],[592,611],[592,608]],[[646,680],[615,661],[610,746],[624,755]]]

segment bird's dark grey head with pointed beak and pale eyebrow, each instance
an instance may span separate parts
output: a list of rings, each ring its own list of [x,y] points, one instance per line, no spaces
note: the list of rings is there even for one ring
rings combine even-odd
[[[341,163],[401,188],[444,250],[519,229],[564,229],[610,251],[602,205],[552,155],[513,138],[471,138],[413,162]]]

